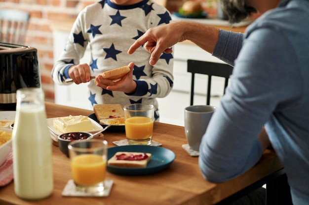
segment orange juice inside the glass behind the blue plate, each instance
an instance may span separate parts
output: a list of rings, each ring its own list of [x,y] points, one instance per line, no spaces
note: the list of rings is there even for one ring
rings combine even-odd
[[[125,120],[125,135],[132,140],[153,136],[154,121],[149,117],[130,117]]]

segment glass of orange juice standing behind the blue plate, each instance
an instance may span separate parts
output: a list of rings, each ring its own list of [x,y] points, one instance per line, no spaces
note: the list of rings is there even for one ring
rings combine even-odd
[[[128,145],[151,145],[154,128],[154,105],[130,104],[123,107]]]

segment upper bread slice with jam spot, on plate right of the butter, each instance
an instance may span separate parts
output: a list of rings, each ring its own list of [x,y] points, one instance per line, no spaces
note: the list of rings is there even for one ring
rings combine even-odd
[[[93,106],[93,111],[97,119],[124,117],[124,112],[120,104],[97,104]]]

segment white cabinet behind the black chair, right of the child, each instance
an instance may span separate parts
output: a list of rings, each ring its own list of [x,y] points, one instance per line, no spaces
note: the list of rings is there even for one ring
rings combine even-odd
[[[174,46],[174,87],[171,93],[158,98],[160,121],[184,126],[184,110],[190,105],[191,73],[187,72],[187,60],[205,60],[213,62],[223,61],[211,56],[192,43],[178,43]],[[206,75],[196,74],[194,82],[194,105],[206,104],[206,90],[208,78]],[[224,90],[224,79],[213,77],[211,82],[210,104],[219,106],[220,97]]]

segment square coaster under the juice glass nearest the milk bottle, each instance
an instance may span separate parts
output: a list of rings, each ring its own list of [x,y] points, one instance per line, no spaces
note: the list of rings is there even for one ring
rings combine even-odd
[[[113,183],[114,183],[113,180],[105,180],[104,181],[104,185],[105,185],[104,191],[99,194],[93,194],[93,193],[85,193],[85,192],[77,191],[74,180],[70,179],[62,191],[62,196],[66,196],[66,197],[108,197],[110,195]]]

